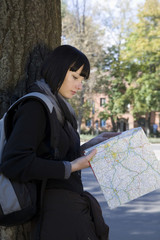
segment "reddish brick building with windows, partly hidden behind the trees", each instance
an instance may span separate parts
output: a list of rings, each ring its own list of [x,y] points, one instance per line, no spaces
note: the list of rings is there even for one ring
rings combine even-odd
[[[92,111],[90,118],[82,121],[82,132],[98,133],[104,130],[112,131],[111,119],[102,119],[99,117],[99,113],[104,111],[103,104],[107,103],[107,96],[103,93],[96,93],[92,96]],[[147,114],[138,116],[137,119],[133,118],[131,114],[131,108],[128,106],[128,111],[125,114],[121,114],[117,117],[116,126],[118,131],[125,131],[138,126],[141,126],[146,131]],[[155,130],[160,132],[160,112],[151,112],[150,114],[150,126],[151,132]]]

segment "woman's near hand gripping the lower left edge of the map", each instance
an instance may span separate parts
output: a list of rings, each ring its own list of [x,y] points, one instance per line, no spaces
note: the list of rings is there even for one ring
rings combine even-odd
[[[93,149],[88,155],[77,158],[71,162],[71,172],[75,172],[89,167],[89,161],[96,154],[97,150]]]

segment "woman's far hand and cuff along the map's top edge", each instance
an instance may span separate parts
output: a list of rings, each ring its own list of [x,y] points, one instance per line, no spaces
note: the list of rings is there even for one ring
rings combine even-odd
[[[83,153],[85,149],[90,148],[100,142],[103,142],[111,137],[115,137],[117,135],[121,134],[120,132],[103,132],[99,134],[98,136],[92,138],[90,141],[84,143],[81,146],[81,152]]]

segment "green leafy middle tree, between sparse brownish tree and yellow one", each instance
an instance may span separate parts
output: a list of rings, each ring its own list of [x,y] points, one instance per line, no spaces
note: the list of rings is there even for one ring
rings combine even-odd
[[[128,100],[124,98],[126,83],[124,72],[120,63],[120,48],[112,46],[104,55],[103,65],[99,64],[99,80],[95,90],[106,93],[108,100],[104,104],[104,111],[99,114],[100,118],[111,118],[113,129],[116,130],[117,116],[127,110]]]

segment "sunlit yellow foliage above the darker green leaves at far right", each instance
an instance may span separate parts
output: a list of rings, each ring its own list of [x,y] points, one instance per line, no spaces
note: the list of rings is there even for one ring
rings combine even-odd
[[[127,38],[124,59],[137,61],[141,64],[158,63],[160,57],[160,2],[146,0],[139,10],[138,23]],[[147,70],[147,69],[146,69]]]

